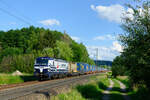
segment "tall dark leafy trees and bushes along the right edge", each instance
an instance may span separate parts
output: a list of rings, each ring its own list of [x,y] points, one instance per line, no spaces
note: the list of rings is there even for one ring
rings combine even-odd
[[[114,59],[112,72],[114,76],[128,75],[131,85],[150,91],[150,1],[128,7],[133,10],[133,19],[124,18],[125,33],[120,35],[124,50]]]

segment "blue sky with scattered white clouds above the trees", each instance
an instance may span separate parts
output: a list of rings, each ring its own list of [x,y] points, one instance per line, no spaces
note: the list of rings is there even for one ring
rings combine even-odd
[[[83,43],[92,59],[113,60],[123,47],[121,17],[132,0],[0,0],[0,30],[31,25],[66,32]],[[132,17],[129,15],[129,17]]]

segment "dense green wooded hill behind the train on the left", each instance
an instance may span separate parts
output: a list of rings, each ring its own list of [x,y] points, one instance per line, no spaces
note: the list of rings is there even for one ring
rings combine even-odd
[[[34,26],[0,31],[0,72],[33,73],[34,60],[41,56],[94,64],[86,47],[66,33]]]

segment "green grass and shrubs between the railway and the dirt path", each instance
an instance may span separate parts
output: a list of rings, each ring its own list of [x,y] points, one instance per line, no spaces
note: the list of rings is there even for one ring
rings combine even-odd
[[[77,85],[68,93],[61,93],[51,98],[51,100],[101,100],[102,91],[109,85],[106,75],[91,77],[89,83]]]

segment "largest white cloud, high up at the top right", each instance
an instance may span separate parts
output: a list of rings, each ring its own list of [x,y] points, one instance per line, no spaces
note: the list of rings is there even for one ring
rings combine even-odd
[[[107,19],[109,21],[121,23],[121,18],[124,17],[123,14],[125,14],[126,11],[128,11],[130,14],[127,14],[127,17],[133,18],[132,16],[132,9],[125,9],[123,6],[116,4],[116,5],[110,5],[110,6],[94,6],[91,5],[91,9],[96,11],[99,15],[99,17]]]

